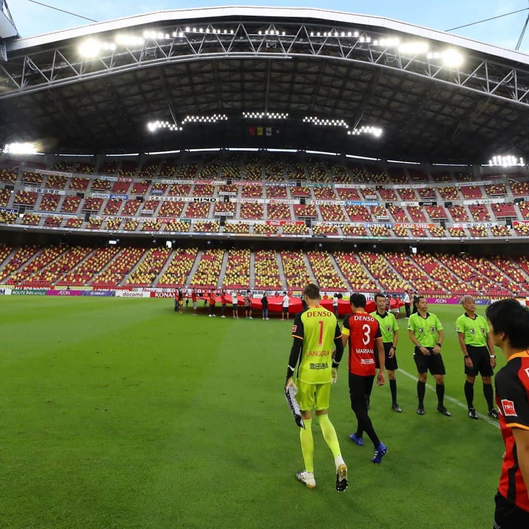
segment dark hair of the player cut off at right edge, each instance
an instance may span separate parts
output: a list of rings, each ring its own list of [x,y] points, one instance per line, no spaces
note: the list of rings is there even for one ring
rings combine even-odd
[[[529,349],[529,311],[516,299],[501,299],[492,303],[485,315],[495,334],[504,332],[513,349]]]

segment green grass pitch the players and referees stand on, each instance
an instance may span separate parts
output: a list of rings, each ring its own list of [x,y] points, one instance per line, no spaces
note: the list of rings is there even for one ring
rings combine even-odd
[[[446,331],[446,395],[464,402],[460,308],[430,308]],[[369,441],[349,441],[356,421],[341,367],[329,415],[349,489],[334,490],[316,421],[317,488],[300,485],[299,434],[282,393],[289,323],[86,297],[0,297],[0,321],[2,528],[492,526],[499,430],[451,402],[443,417],[430,390],[417,416],[416,383],[402,373],[402,415],[387,384],[373,390],[370,414],[388,446],[375,466]],[[399,325],[399,366],[415,374]],[[486,412],[480,380],[475,393]]]

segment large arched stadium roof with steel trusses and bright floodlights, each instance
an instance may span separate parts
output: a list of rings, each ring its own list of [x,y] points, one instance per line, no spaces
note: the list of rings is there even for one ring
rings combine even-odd
[[[161,11],[6,51],[0,139],[44,152],[273,147],[485,163],[529,147],[529,56],[384,17]]]

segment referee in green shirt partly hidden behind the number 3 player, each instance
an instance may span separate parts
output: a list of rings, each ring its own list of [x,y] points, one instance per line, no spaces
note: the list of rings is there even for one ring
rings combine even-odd
[[[398,323],[395,316],[386,310],[387,300],[384,294],[375,294],[375,304],[377,310],[372,312],[371,316],[378,321],[382,334],[382,343],[384,343],[386,369],[388,370],[389,389],[391,390],[391,409],[394,412],[402,413],[402,409],[397,404],[397,381],[395,380],[395,371],[398,369],[397,357],[395,355],[398,342]],[[378,354],[375,354],[375,363],[377,369],[379,369]]]

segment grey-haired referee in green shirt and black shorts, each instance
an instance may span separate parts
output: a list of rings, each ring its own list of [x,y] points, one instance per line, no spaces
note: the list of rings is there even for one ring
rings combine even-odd
[[[472,296],[463,296],[459,302],[463,305],[464,313],[455,322],[455,332],[458,333],[459,345],[464,357],[464,373],[467,380],[464,383],[464,396],[467,398],[468,416],[477,419],[474,408],[474,382],[480,373],[483,380],[483,394],[487,401],[489,415],[498,418],[494,408],[494,391],[492,391],[492,371],[496,367],[494,343],[490,335],[489,324],[485,317],[476,314],[476,301]]]

